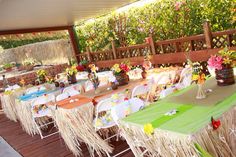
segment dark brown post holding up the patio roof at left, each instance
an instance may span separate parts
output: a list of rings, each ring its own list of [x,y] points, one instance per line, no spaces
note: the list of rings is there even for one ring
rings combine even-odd
[[[71,44],[72,44],[72,47],[73,47],[73,50],[74,50],[74,54],[76,56],[77,63],[79,64],[79,62],[80,62],[80,58],[78,56],[79,48],[78,48],[77,35],[76,35],[76,31],[74,29],[74,26],[70,26],[68,28],[68,33],[70,35],[70,41],[71,41]]]

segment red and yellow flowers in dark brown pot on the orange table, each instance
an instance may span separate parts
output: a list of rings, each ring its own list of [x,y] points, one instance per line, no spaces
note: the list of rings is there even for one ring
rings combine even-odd
[[[124,61],[120,64],[114,64],[111,70],[113,71],[113,74],[116,77],[119,85],[128,84],[129,76],[127,75],[127,72],[130,70],[129,61]]]

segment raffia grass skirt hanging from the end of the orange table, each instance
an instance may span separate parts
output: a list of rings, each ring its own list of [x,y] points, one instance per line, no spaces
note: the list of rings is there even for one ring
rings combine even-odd
[[[93,110],[93,103],[90,102],[70,109],[58,107],[52,112],[60,135],[75,156],[83,156],[81,142],[87,145],[90,156],[96,152],[104,157],[112,152],[112,147],[94,129]]]

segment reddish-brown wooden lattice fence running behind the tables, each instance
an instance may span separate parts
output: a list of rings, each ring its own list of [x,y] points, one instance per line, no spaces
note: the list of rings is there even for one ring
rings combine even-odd
[[[157,42],[153,41],[150,35],[146,43],[129,47],[116,48],[112,42],[111,50],[90,52],[88,49],[77,57],[79,60],[94,62],[100,68],[106,68],[124,59],[128,59],[132,65],[140,65],[148,53],[151,55],[151,62],[159,66],[186,62],[186,52],[189,52],[192,61],[204,62],[225,46],[236,50],[236,29],[211,32],[208,22],[203,24],[203,29],[204,34]]]

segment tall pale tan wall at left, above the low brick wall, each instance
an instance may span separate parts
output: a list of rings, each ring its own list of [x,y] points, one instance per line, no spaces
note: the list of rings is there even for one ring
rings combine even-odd
[[[22,63],[27,57],[44,65],[62,64],[68,63],[68,58],[73,56],[69,40],[50,40],[4,50],[0,53],[0,65],[9,62]]]

